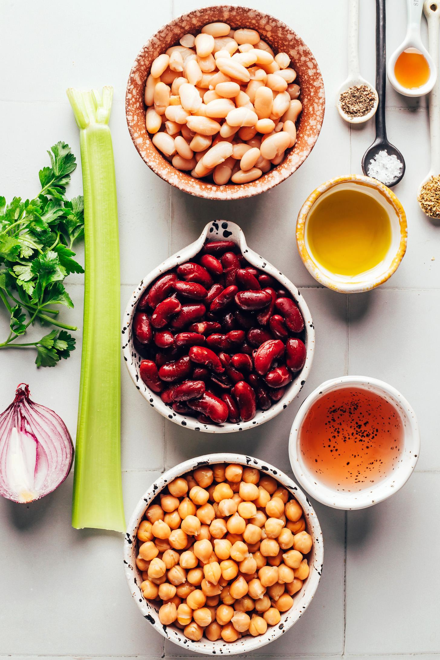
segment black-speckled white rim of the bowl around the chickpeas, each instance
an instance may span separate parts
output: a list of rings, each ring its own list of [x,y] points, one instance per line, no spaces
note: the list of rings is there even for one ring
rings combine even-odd
[[[313,537],[313,558],[311,558],[311,563],[309,564],[310,573],[309,577],[305,581],[305,586],[303,585],[301,591],[298,591],[298,599],[288,612],[294,612],[295,616],[292,617],[291,621],[288,621],[287,618],[283,621],[281,620],[280,624],[268,628],[264,636],[259,637],[248,637],[237,640],[232,644],[226,644],[223,640],[216,640],[216,642],[210,642],[206,638],[202,638],[201,642],[191,642],[187,640],[179,630],[176,628],[172,629],[171,626],[162,626],[158,621],[157,612],[158,610],[150,605],[146,601],[142,594],[140,593],[140,584],[137,582],[136,571],[138,570],[136,566],[133,566],[133,544],[136,543],[136,533],[139,523],[144,515],[148,504],[156,497],[156,495],[173,479],[180,477],[185,472],[191,471],[195,467],[201,467],[202,465],[212,465],[214,463],[239,463],[240,465],[250,465],[251,467],[257,467],[260,471],[270,474],[283,486],[285,486],[289,492],[298,499],[299,504],[301,504],[304,512],[304,518],[306,521],[306,528],[309,530],[309,533]],[[127,525],[127,533],[124,538],[124,547],[123,547],[123,564],[124,564],[124,573],[125,579],[129,585],[131,595],[135,599],[135,602],[139,609],[141,610],[144,618],[152,624],[158,632],[164,638],[170,640],[174,644],[177,644],[183,648],[189,648],[196,653],[206,653],[206,654],[216,654],[218,653],[219,647],[221,647],[220,653],[222,655],[236,655],[237,653],[243,653],[247,651],[252,651],[254,649],[260,648],[269,644],[276,638],[282,636],[288,628],[294,626],[294,624],[301,618],[303,612],[310,605],[318,584],[321,579],[321,574],[323,571],[323,558],[324,558],[324,547],[323,547],[323,534],[321,531],[321,525],[319,525],[318,517],[313,509],[313,506],[309,502],[307,496],[301,491],[299,486],[294,482],[290,477],[288,477],[284,472],[278,470],[267,461],[261,461],[255,457],[239,454],[239,453],[214,453],[206,454],[203,456],[197,456],[195,458],[183,461],[172,467],[170,470],[166,471],[158,479],[156,479],[153,484],[144,492],[140,498],[135,510],[133,511],[129,523]],[[282,613],[282,617],[288,615],[288,612]],[[170,629],[167,632],[167,628]],[[269,633],[269,634],[268,634]],[[267,639],[265,637],[267,636]],[[262,639],[263,638],[263,639]],[[241,643],[239,643],[241,642]]]

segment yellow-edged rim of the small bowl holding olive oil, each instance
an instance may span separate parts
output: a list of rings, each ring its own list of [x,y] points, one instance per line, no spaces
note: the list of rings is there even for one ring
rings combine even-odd
[[[313,261],[305,244],[305,223],[307,222],[307,217],[309,216],[313,205],[315,205],[321,195],[326,193],[332,187],[340,185],[341,183],[356,183],[356,185],[366,186],[379,191],[379,193],[385,197],[387,203],[393,207],[396,215],[398,216],[398,222],[400,226],[400,242],[391,265],[386,271],[381,273],[381,275],[371,277],[370,279],[365,279],[363,282],[340,282],[332,279],[323,273],[317,263]],[[317,282],[340,293],[361,293],[363,291],[369,291],[373,288],[376,288],[376,286],[386,282],[400,265],[400,262],[402,261],[406,252],[407,242],[408,226],[406,223],[406,213],[398,197],[396,197],[396,195],[389,187],[380,181],[377,181],[377,179],[373,179],[369,176],[363,176],[361,174],[347,174],[345,176],[337,176],[333,179],[329,179],[324,183],[321,183],[321,185],[319,185],[313,191],[313,193],[310,193],[309,197],[307,197],[301,206],[301,209],[299,209],[298,219],[296,221],[296,246],[298,248],[299,256],[307,268],[307,271],[309,271],[310,275],[312,275],[312,277],[314,277]]]

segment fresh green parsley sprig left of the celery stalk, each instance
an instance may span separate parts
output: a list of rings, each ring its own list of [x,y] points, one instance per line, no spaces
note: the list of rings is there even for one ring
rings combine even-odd
[[[69,273],[84,273],[72,251],[84,234],[84,203],[82,195],[71,201],[65,197],[75,156],[63,142],[47,153],[51,166],[39,172],[37,197],[14,197],[9,204],[0,197],[0,300],[10,315],[10,332],[0,348],[34,347],[37,366],[55,366],[75,349],[66,331],[77,328],[58,321],[53,306],[73,308],[63,282]],[[37,320],[57,329],[39,341],[16,341]]]

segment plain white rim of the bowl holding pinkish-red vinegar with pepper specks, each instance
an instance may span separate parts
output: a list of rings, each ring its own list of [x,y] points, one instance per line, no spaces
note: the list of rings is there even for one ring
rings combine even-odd
[[[325,486],[321,482],[317,482],[315,477],[303,468],[303,465],[299,462],[298,455],[299,430],[311,405],[326,393],[346,385],[358,385],[358,387],[366,389],[371,385],[371,387],[379,389],[398,403],[406,415],[405,421],[408,422],[408,427],[410,428],[410,442],[408,443],[410,451],[409,455],[404,459],[404,463],[402,463],[394,473],[394,479],[392,482],[383,480],[382,482],[377,482],[377,484],[369,490],[365,488],[365,490],[342,493],[332,490],[332,488]],[[414,409],[407,399],[405,399],[405,397],[393,387],[393,385],[389,385],[389,383],[385,383],[385,381],[377,378],[369,378],[368,376],[340,376],[338,378],[330,378],[324,383],[321,383],[321,385],[316,387],[303,403],[301,403],[290,430],[289,459],[296,479],[304,490],[311,494],[315,500],[334,509],[355,511],[365,509],[369,506],[373,506],[373,504],[387,500],[406,484],[416,467],[419,455],[420,430]]]

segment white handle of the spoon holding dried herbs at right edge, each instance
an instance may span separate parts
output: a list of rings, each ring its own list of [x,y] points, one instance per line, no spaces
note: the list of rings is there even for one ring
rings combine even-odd
[[[429,53],[435,62],[439,61],[440,2],[426,0],[424,14],[427,20]],[[417,195],[431,176],[440,175],[440,80],[437,79],[429,94],[429,135],[431,138],[431,169],[420,183]]]

